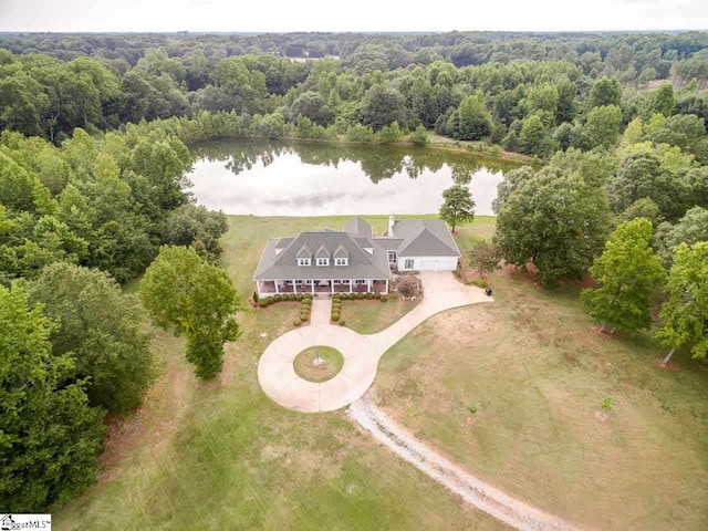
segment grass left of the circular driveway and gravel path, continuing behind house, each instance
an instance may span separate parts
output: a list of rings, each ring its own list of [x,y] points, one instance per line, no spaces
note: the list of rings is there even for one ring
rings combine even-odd
[[[230,218],[225,267],[248,296],[268,237],[346,219]],[[383,231],[386,217],[372,220]],[[54,512],[54,527],[503,529],[392,457],[343,413],[302,415],[262,393],[258,360],[298,313],[296,304],[242,312],[243,334],[228,346],[220,378],[207,384],[194,377],[183,340],[159,333],[162,378],[143,409],[112,429],[98,485]]]

